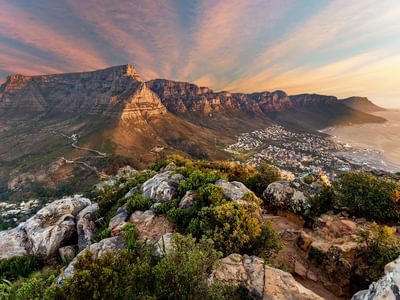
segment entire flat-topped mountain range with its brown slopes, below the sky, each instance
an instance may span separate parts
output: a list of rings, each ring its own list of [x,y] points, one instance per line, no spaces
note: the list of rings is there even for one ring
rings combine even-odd
[[[333,96],[144,82],[131,65],[12,75],[0,86],[0,199],[84,189],[119,165],[143,168],[171,153],[228,158],[223,149],[238,133],[275,123],[314,131],[383,121]]]

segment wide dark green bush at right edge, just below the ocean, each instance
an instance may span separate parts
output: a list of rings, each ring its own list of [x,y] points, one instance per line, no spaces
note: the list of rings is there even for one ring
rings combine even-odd
[[[357,217],[376,221],[400,220],[400,185],[365,173],[344,173],[334,186],[339,203]]]

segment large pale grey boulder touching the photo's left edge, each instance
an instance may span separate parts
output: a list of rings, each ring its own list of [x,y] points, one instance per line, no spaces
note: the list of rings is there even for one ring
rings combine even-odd
[[[31,254],[48,259],[76,239],[75,217],[91,204],[89,199],[56,200],[18,227],[0,232],[0,259]]]

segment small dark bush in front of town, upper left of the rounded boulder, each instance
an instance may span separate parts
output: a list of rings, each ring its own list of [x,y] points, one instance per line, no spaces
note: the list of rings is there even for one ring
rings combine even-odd
[[[269,164],[262,164],[257,168],[257,173],[244,181],[244,184],[257,196],[261,197],[264,190],[272,182],[280,180],[279,170]]]

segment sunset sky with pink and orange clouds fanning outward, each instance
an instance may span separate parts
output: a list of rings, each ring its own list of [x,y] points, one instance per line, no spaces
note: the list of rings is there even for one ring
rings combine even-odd
[[[400,1],[0,0],[0,82],[127,63],[145,80],[400,107]]]

